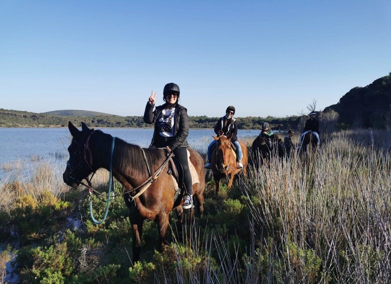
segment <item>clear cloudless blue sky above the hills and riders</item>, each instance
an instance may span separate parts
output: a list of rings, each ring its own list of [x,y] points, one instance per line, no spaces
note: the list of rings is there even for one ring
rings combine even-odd
[[[388,75],[391,1],[2,0],[0,54],[3,109],[284,117]]]

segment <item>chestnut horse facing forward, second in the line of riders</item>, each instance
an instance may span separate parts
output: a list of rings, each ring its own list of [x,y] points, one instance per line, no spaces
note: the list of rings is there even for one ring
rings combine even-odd
[[[211,165],[213,179],[216,184],[216,192],[220,189],[220,179],[225,176],[229,176],[228,188],[231,188],[233,177],[239,174],[242,170],[238,167],[236,153],[232,148],[231,138],[232,136],[213,136],[214,140],[217,141],[216,148],[214,149],[211,156]],[[247,173],[248,156],[247,147],[245,144],[239,141],[243,152],[243,172]]]

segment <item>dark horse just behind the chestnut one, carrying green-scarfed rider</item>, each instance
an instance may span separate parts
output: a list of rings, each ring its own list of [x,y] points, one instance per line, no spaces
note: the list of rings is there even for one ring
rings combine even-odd
[[[255,138],[251,146],[254,166],[258,167],[265,163],[270,163],[274,156],[278,156],[280,159],[285,156],[284,142],[282,142],[277,134],[273,134],[270,137],[270,142],[271,148],[265,137],[257,136]]]

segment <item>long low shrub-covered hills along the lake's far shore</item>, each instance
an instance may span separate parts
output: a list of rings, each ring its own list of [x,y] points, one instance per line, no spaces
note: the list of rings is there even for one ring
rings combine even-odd
[[[190,128],[214,128],[217,117],[190,117]],[[237,118],[240,129],[261,129],[263,122],[269,122],[274,129],[287,130],[296,128],[298,117],[246,117]],[[141,116],[115,116],[89,111],[53,111],[48,113],[30,113],[23,111],[0,109],[0,127],[66,127],[68,121],[74,125],[85,122],[89,127],[132,127],[151,128],[145,124]]]

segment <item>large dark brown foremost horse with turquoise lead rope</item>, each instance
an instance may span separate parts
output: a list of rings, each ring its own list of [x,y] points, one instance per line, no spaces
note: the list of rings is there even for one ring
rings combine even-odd
[[[102,131],[89,129],[82,123],[82,131],[70,122],[69,131],[72,142],[68,147],[69,160],[63,173],[64,182],[70,186],[79,185],[83,179],[99,168],[109,170],[109,160],[113,137]],[[133,230],[133,261],[140,259],[142,225],[144,219],[158,224],[160,242],[166,241],[169,227],[169,213],[177,209],[182,213],[182,193],[174,199],[175,188],[168,163],[157,179],[139,197],[133,196],[140,191],[139,186],[154,175],[166,160],[164,149],[141,149],[139,146],[115,138],[112,154],[113,176],[126,188],[123,199],[129,209],[129,221]],[[198,174],[198,182],[193,184],[193,194],[198,204],[198,211],[203,213],[205,172],[202,157],[189,148],[190,161]],[[150,174],[151,172],[152,174]],[[136,189],[135,191],[132,191]],[[193,211],[192,209],[190,209]],[[193,211],[194,212],[194,211]]]

